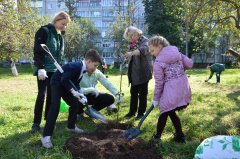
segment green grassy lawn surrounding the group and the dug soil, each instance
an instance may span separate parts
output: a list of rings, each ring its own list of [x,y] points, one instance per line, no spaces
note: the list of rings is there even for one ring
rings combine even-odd
[[[55,126],[52,142],[54,148],[47,150],[41,147],[39,133],[30,134],[33,121],[34,104],[37,96],[36,77],[32,76],[32,68],[18,66],[19,76],[13,77],[10,68],[0,68],[0,158],[71,158],[69,152],[63,152],[65,142],[74,134],[65,130],[68,113],[60,113]],[[9,74],[6,74],[9,72]],[[109,80],[119,89],[120,75],[117,69],[106,70]],[[178,112],[182,121],[183,132],[186,135],[185,144],[172,140],[174,128],[168,119],[159,144],[159,153],[164,159],[194,157],[195,150],[205,138],[215,135],[240,135],[240,71],[227,69],[221,75],[221,84],[215,84],[214,76],[205,83],[210,72],[207,70],[189,70],[189,82],[192,88],[192,101],[187,109]],[[4,73],[4,74],[3,74]],[[99,91],[106,91],[100,84]],[[130,93],[127,76],[123,76],[123,103],[119,111],[122,123],[131,122],[137,125],[139,121],[125,120],[124,115],[129,110]],[[151,105],[154,91],[154,80],[149,83],[148,108]],[[147,108],[147,109],[148,109]],[[108,115],[102,110],[108,121],[116,122],[116,114]],[[156,131],[159,109],[154,109],[144,121],[141,129],[145,131],[139,138],[149,140]],[[100,122],[90,119],[77,122],[77,126],[85,132],[92,132]],[[41,123],[41,128],[45,121]]]

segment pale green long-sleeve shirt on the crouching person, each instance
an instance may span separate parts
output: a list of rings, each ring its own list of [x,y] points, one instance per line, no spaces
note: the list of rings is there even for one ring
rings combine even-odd
[[[88,73],[84,73],[82,80],[80,82],[80,87],[83,94],[89,94],[93,92],[93,87],[96,87],[98,81],[113,95],[117,95],[117,89],[107,80],[107,78],[102,74],[98,69],[93,72],[91,76],[88,76]]]

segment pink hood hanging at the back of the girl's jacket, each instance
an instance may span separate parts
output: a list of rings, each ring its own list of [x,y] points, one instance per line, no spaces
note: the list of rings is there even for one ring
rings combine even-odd
[[[166,46],[157,56],[156,60],[159,62],[172,64],[177,62],[180,59],[179,51],[176,46]]]

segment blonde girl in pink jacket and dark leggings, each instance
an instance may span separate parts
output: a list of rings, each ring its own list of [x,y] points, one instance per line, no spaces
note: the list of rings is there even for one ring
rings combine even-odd
[[[169,116],[176,130],[174,140],[185,142],[176,111],[186,108],[191,100],[191,88],[185,70],[192,68],[193,61],[180,53],[176,46],[170,46],[162,36],[150,38],[148,46],[149,51],[156,57],[153,64],[155,90],[152,104],[154,107],[159,105],[160,109],[157,133],[153,137],[161,141]]]

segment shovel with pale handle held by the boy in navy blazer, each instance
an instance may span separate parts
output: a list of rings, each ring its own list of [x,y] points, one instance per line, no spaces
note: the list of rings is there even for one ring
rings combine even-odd
[[[57,63],[57,61],[54,59],[54,57],[52,56],[50,50],[48,49],[48,47],[45,44],[40,44],[41,47],[43,48],[43,50],[45,51],[45,54],[51,59],[51,61],[54,63],[54,65],[57,67],[58,71],[61,73],[64,73],[62,67]],[[72,83],[71,80],[68,81],[71,86],[73,87],[73,89],[75,91],[78,91],[77,87]],[[85,113],[88,116],[91,116],[97,120],[100,120],[101,122],[107,123],[107,119],[104,117],[104,115],[102,115],[100,112],[98,112],[96,109],[89,107],[88,103],[84,103],[84,106],[86,106],[86,110]]]

